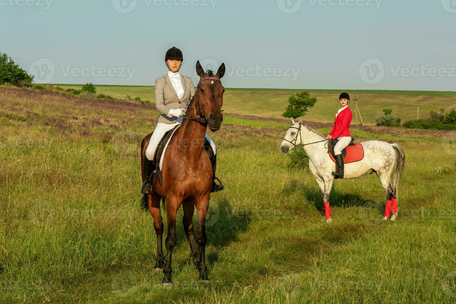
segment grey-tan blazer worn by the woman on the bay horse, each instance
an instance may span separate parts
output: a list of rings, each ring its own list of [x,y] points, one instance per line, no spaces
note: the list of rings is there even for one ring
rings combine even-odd
[[[181,75],[182,87],[184,94],[182,98],[177,97],[177,93],[172,86],[168,74],[155,79],[155,108],[161,113],[158,119],[159,123],[173,124],[176,122],[177,117],[168,117],[170,109],[185,109],[187,110],[188,104],[195,95],[195,87],[193,86],[192,78]]]

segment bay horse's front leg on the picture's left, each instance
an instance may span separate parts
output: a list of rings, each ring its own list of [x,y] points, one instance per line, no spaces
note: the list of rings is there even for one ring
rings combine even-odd
[[[181,206],[182,200],[177,197],[166,198],[166,218],[168,220],[168,235],[166,236],[166,264],[163,268],[165,277],[163,278],[164,284],[171,284],[171,256],[176,247],[177,235],[176,235],[176,214],[177,209]]]

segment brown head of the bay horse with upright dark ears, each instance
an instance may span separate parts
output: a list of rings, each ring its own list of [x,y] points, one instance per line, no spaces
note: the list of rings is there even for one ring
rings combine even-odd
[[[220,129],[220,124],[223,121],[222,106],[223,106],[223,88],[220,78],[225,75],[225,64],[218,68],[214,75],[212,71],[204,72],[200,62],[197,62],[197,74],[200,81],[197,86],[197,98],[199,98],[200,112],[207,119],[207,124],[211,131]]]

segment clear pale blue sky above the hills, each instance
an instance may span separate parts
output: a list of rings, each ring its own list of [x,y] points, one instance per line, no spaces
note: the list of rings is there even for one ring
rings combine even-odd
[[[166,50],[226,88],[456,91],[456,0],[0,0],[38,83],[154,85]]]

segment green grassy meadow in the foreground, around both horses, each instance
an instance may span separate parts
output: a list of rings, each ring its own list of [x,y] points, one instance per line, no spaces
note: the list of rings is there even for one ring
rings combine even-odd
[[[271,105],[289,95],[275,94],[262,96]],[[260,98],[228,91],[224,113],[262,116]],[[384,98],[392,107],[407,96]],[[309,170],[290,168],[279,151],[288,124],[225,115],[208,131],[226,189],[211,196],[211,283],[197,281],[180,210],[174,285],[164,288],[152,271],[152,217],[139,204],[139,144],[158,118],[151,106],[3,86],[0,105],[1,303],[456,302],[454,132],[353,127],[358,142],[404,148],[399,219],[380,221],[385,197],[369,175],[335,181],[326,224]],[[312,125],[329,131],[331,115]]]

